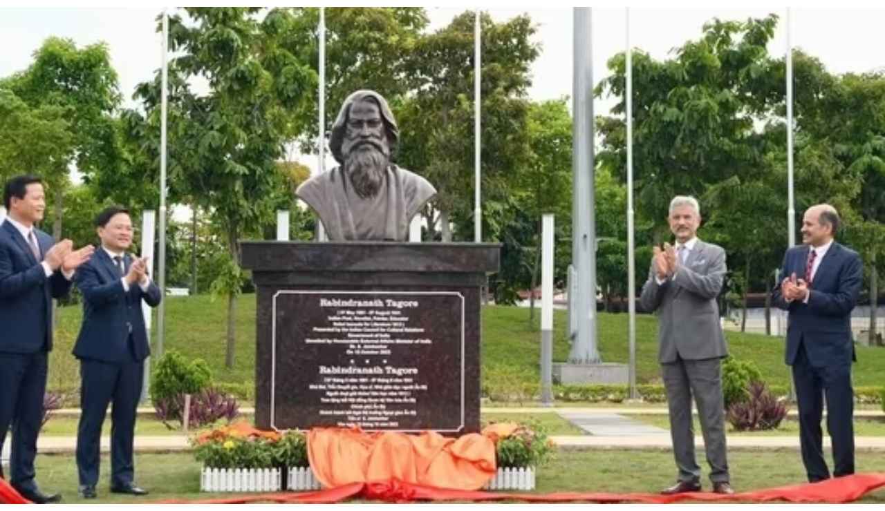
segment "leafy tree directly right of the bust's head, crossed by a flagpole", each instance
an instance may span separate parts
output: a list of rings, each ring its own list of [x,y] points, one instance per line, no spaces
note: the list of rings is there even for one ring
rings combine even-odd
[[[526,15],[495,23],[482,14],[481,26],[482,230],[485,239],[500,240],[515,213],[510,181],[530,157],[526,95],[538,48]],[[473,11],[458,15],[420,38],[405,64],[414,93],[400,109],[408,140],[399,162],[436,187],[444,241],[452,239],[450,220],[459,237],[473,238],[473,27]]]

